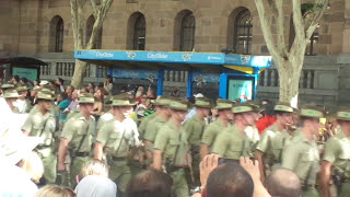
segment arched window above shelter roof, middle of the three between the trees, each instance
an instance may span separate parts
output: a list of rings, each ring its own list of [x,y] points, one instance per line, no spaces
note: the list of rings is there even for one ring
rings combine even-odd
[[[192,12],[184,15],[180,26],[180,51],[191,51],[195,47],[196,19]]]

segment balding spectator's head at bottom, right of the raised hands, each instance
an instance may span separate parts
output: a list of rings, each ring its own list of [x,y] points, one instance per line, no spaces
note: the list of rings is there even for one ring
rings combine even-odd
[[[300,197],[301,183],[295,173],[287,169],[273,171],[265,181],[266,189],[272,197]]]

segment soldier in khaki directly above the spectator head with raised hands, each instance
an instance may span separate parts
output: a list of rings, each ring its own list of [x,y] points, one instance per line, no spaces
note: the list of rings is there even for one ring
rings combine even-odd
[[[245,129],[256,124],[255,108],[250,104],[236,104],[232,112],[235,123],[218,135],[212,153],[230,160],[240,160],[241,157],[254,158],[256,144],[248,138]]]

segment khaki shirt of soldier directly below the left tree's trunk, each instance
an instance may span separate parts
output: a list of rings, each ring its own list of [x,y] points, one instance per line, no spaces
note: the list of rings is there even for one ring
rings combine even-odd
[[[90,116],[90,120],[88,121],[84,116],[79,113],[65,124],[61,138],[70,141],[69,149],[74,152],[91,152],[94,127],[95,118],[93,116]],[[80,143],[82,144],[78,150]]]

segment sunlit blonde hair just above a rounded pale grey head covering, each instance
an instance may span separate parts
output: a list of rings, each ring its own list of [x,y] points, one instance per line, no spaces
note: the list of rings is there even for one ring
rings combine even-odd
[[[91,159],[81,167],[79,179],[89,175],[103,175],[108,177],[108,166],[100,160]]]

